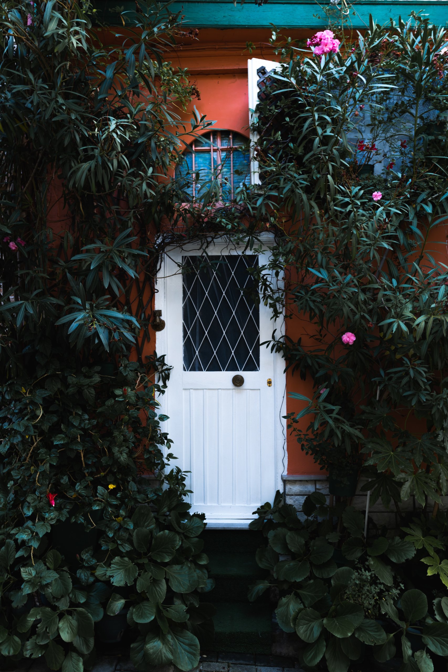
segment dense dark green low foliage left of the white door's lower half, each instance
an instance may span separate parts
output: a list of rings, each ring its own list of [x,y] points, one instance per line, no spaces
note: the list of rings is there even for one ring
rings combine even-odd
[[[189,670],[213,634],[213,607],[199,601],[213,583],[204,516],[189,513],[163,452],[157,386],[126,360],[114,390],[99,367],[59,368],[46,366],[45,387],[22,378],[0,391],[0,653],[81,672],[95,623],[127,612],[138,669]],[[69,521],[74,554],[60,543]]]

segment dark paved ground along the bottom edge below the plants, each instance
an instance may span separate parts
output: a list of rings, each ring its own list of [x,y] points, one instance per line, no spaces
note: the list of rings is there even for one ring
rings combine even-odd
[[[21,661],[25,662],[25,661]],[[51,672],[44,661],[26,661],[16,672]],[[173,665],[154,667],[151,672],[176,672]],[[91,672],[136,672],[125,656],[100,656]],[[246,653],[209,653],[201,656],[195,672],[303,672],[290,658],[249,655]]]

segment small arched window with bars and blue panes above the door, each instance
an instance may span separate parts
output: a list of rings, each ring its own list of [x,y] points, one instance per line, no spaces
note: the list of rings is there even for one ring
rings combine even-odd
[[[218,176],[222,200],[234,198],[244,182],[250,184],[247,138],[231,130],[214,130],[195,138],[176,168],[176,177],[186,179],[191,198],[200,198],[200,182]]]

